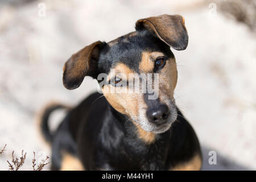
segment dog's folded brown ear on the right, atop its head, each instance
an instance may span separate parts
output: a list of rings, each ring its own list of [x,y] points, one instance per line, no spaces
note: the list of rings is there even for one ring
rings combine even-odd
[[[180,15],[160,15],[139,19],[136,30],[147,29],[160,40],[176,50],[184,50],[188,46],[188,32]]]

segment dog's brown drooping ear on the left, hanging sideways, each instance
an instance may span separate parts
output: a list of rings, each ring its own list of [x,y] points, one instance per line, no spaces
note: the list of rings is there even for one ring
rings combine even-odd
[[[94,76],[102,42],[94,42],[73,54],[63,68],[63,85],[72,90],[78,88],[85,76]]]

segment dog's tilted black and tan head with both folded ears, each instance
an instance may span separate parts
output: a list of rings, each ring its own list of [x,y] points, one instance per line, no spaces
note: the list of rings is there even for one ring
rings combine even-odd
[[[102,93],[115,110],[144,131],[163,133],[177,117],[177,69],[170,47],[185,49],[187,30],[180,15],[139,19],[135,29],[109,43],[90,44],[72,55],[64,66],[63,83],[67,89],[76,89],[85,76],[98,78]],[[102,73],[104,79],[98,77]]]

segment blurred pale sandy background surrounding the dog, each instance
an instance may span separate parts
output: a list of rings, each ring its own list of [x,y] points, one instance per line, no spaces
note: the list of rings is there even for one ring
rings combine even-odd
[[[161,14],[185,18],[189,43],[175,51],[177,106],[192,124],[204,154],[203,170],[256,169],[256,1],[0,1],[0,170],[27,152],[23,170],[50,148],[36,114],[48,102],[77,105],[97,89],[62,84],[65,61],[97,40],[134,31],[138,19]],[[54,129],[63,113],[52,116]],[[209,164],[210,151],[217,164]],[[210,153],[209,153],[210,152]],[[44,168],[49,169],[49,166]]]

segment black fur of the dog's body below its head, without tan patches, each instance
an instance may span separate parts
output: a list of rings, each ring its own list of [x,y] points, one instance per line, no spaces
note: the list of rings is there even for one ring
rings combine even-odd
[[[61,150],[78,156],[86,170],[167,170],[201,155],[196,134],[179,110],[171,129],[147,145],[126,122],[129,118],[101,96],[90,95],[61,123],[52,143],[52,169],[60,169]]]

